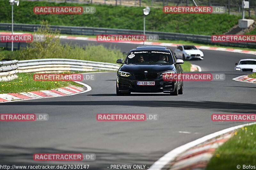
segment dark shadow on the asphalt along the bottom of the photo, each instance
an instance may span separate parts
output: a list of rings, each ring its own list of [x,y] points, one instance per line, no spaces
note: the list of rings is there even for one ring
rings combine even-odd
[[[86,143],[86,142],[84,142]],[[86,145],[86,144],[85,144]],[[94,161],[34,161],[34,153],[94,153]],[[89,165],[90,170],[107,170],[110,164],[141,164],[151,166],[152,162],[165,153],[127,153],[108,149],[72,147],[60,150],[54,147],[18,147],[15,145],[0,145],[0,165],[34,166],[34,165]],[[145,160],[145,156],[147,159]],[[145,169],[148,169],[147,167]]]

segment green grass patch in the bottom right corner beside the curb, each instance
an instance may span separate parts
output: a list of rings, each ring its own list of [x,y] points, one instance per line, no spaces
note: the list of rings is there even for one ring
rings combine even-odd
[[[215,150],[206,170],[237,169],[256,165],[256,125],[238,129],[235,135]]]

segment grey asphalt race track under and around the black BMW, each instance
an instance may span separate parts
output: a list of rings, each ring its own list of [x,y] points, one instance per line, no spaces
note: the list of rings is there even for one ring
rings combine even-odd
[[[70,42],[70,40],[66,40]],[[74,41],[80,45],[92,41]],[[99,44],[99,42],[93,42]],[[103,43],[109,46],[111,43]],[[112,43],[128,52],[135,44]],[[174,48],[171,48],[174,49]],[[111,164],[151,166],[165,153],[205,135],[246,122],[212,122],[214,113],[255,113],[252,83],[232,80],[246,73],[235,63],[256,55],[202,50],[203,61],[191,63],[202,71],[225,73],[225,81],[185,81],[184,94],[132,93],[116,96],[116,72],[90,73],[83,81],[92,90],[73,96],[0,103],[1,113],[47,113],[48,121],[0,122],[1,165],[80,165],[81,161],[34,161],[34,153],[95,153],[89,169],[107,170]],[[158,114],[159,120],[100,122],[98,113]],[[187,131],[191,133],[180,133]]]

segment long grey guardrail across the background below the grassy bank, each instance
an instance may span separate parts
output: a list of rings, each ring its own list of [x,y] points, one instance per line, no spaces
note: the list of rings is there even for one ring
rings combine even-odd
[[[15,31],[36,31],[39,24],[14,24],[13,29]],[[96,27],[82,27],[82,26],[51,26],[53,30],[60,30],[60,33],[67,34],[81,34],[81,35],[97,35],[97,34],[143,34],[142,30],[130,30],[130,29],[114,29],[114,28],[96,28]],[[0,23],[0,30],[11,31],[11,23]],[[237,46],[237,47],[254,47],[255,42],[212,42],[209,35],[196,35],[185,33],[169,33],[169,32],[157,32],[146,31],[146,34],[157,34],[159,39],[163,40],[186,40],[203,42],[207,44],[218,44],[225,46]],[[11,44],[6,42],[0,42],[1,47],[9,47]],[[15,48],[24,46],[24,43],[15,43]]]

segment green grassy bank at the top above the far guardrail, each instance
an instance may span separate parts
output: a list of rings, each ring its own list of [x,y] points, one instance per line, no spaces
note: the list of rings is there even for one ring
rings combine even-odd
[[[143,30],[144,7],[90,4],[95,14],[34,14],[34,6],[80,6],[76,3],[22,1],[14,6],[14,23],[40,24],[48,20],[51,25],[88,26]],[[0,22],[11,23],[11,6],[0,0]],[[146,30],[192,34],[223,34],[237,24],[239,15],[224,14],[165,14],[162,8],[151,8],[146,17]],[[207,22],[205,22],[207,21]]]

